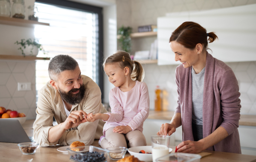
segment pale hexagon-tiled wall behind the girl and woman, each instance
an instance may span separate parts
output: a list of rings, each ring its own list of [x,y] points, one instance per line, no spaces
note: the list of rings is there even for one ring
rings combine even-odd
[[[157,17],[163,17],[166,13],[201,11],[253,3],[256,3],[256,0],[116,0],[117,27],[131,26],[133,32],[137,32],[138,26],[157,24]],[[131,4],[130,9],[129,4]],[[134,51],[149,50],[150,44],[155,39],[157,37],[133,39],[132,54]],[[233,69],[239,81],[241,114],[256,115],[256,62],[227,64]],[[150,95],[150,108],[154,108],[154,89],[156,85],[160,85],[160,88],[166,88],[169,92],[169,110],[175,110],[177,105],[175,68],[177,65],[146,64],[143,67],[145,69],[144,82],[148,85]]]

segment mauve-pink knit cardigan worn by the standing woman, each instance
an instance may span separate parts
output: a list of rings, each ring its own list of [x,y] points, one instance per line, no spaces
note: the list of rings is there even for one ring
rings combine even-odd
[[[182,139],[194,141],[192,134],[192,67],[176,68],[178,106],[175,113],[181,113]],[[240,93],[232,69],[207,53],[204,74],[203,137],[209,136],[219,126],[229,136],[216,145],[207,148],[212,151],[241,153],[239,140]]]

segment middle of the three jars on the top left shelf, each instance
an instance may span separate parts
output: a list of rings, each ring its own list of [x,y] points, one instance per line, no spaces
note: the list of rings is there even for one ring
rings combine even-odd
[[[12,4],[12,17],[14,18],[25,18],[25,5],[24,0],[13,0]]]

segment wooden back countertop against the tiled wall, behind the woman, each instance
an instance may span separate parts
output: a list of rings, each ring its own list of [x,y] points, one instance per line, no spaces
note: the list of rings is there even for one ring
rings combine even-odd
[[[174,111],[149,111],[148,119],[172,120]],[[256,115],[241,115],[239,125],[256,126]]]

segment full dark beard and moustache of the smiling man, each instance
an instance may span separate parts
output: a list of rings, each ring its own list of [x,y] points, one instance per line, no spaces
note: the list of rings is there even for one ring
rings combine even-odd
[[[61,98],[70,105],[79,104],[81,102],[81,100],[84,98],[84,94],[85,94],[84,83],[83,83],[83,85],[80,86],[80,88],[71,89],[69,92],[62,91],[59,88],[58,88],[58,90],[59,90]],[[79,92],[77,94],[72,93],[72,92],[76,92],[78,90],[79,90]]]

